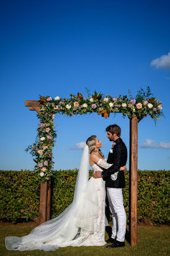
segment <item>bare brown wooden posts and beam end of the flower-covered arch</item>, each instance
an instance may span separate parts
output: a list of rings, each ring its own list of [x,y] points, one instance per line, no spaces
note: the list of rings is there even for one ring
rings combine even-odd
[[[25,106],[40,114],[39,101],[25,101]],[[130,194],[130,245],[137,245],[137,186],[138,186],[138,119],[130,119],[130,156],[129,156],[129,194]],[[50,180],[40,184],[40,212],[39,223],[50,219]]]

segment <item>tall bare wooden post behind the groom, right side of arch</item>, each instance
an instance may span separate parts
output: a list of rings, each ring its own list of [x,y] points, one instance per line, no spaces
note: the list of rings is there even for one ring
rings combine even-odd
[[[137,245],[138,119],[130,120],[130,245]]]

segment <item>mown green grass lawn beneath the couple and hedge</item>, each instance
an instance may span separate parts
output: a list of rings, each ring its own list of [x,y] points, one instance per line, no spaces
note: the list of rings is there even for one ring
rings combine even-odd
[[[138,226],[138,245],[131,247],[130,244],[125,240],[125,247],[117,249],[107,249],[106,245],[102,247],[65,247],[56,250],[55,252],[43,252],[40,250],[34,251],[8,251],[6,250],[4,240],[6,236],[16,235],[23,236],[29,234],[30,231],[35,227],[35,224],[22,224],[22,225],[1,225],[0,224],[0,255],[23,255],[23,256],[34,256],[34,255],[63,255],[63,256],[157,256],[157,255],[170,255],[169,246],[169,234],[170,229],[168,226]],[[105,239],[108,235],[105,235]]]

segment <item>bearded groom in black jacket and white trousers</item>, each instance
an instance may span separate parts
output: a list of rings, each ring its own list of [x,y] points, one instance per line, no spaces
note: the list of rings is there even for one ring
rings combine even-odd
[[[125,246],[125,232],[127,224],[127,216],[123,206],[122,188],[125,188],[125,176],[123,171],[119,171],[120,167],[126,165],[127,162],[127,147],[120,139],[121,129],[116,124],[108,126],[106,129],[107,138],[112,143],[107,163],[114,163],[109,169],[104,169],[102,172],[97,171],[94,178],[103,178],[107,188],[107,198],[109,200],[109,208],[112,212],[113,227],[112,237],[107,240],[111,245],[108,248]],[[117,229],[118,227],[118,229]]]

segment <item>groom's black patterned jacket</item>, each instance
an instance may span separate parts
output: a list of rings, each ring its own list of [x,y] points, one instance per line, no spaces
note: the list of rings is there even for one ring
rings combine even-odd
[[[105,186],[109,188],[125,188],[125,175],[123,171],[119,171],[127,163],[127,147],[122,139],[115,140],[115,145],[110,150],[107,163],[114,163],[109,169],[102,171],[102,178],[105,180]],[[117,180],[112,180],[111,176],[116,171],[119,171]]]

